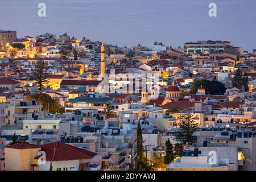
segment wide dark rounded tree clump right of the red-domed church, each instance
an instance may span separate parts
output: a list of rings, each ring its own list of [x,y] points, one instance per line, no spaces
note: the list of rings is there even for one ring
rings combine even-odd
[[[205,88],[207,94],[224,94],[226,92],[225,85],[219,81],[196,80],[191,86],[191,93],[196,94],[201,85]]]

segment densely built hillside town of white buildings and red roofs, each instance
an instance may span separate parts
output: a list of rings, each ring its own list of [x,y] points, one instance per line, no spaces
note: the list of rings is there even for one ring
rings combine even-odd
[[[180,44],[0,30],[0,171],[256,170],[256,49]]]

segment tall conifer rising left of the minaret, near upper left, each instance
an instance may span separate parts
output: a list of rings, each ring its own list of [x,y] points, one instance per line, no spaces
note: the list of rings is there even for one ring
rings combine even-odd
[[[35,81],[36,84],[38,85],[38,90],[42,91],[43,84],[47,84],[48,80],[46,78],[46,64],[44,61],[39,60],[36,62],[35,65]]]

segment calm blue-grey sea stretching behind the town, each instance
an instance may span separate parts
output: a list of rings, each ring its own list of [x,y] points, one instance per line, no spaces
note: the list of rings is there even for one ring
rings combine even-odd
[[[47,16],[39,18],[38,3]],[[208,16],[210,2],[217,17]],[[228,40],[256,48],[256,0],[0,0],[0,28],[18,36],[67,32],[118,46]]]

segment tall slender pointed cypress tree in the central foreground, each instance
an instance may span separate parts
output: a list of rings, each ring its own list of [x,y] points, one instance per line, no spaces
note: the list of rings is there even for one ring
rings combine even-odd
[[[139,171],[145,170],[147,167],[142,143],[143,143],[143,138],[142,138],[141,122],[139,122],[137,126],[137,158],[135,163],[135,169]]]

